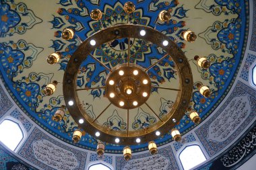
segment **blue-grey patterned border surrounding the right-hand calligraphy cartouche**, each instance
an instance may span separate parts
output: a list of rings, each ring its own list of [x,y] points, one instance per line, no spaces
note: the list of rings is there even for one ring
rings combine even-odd
[[[254,91],[251,87],[245,85],[241,81],[238,81],[236,83],[236,86],[234,87],[234,91],[232,91],[232,93],[230,94],[230,96],[228,97],[226,102],[222,105],[220,110],[218,110],[218,112],[216,112],[216,114],[214,114],[214,116],[212,116],[212,118],[210,118],[210,120],[205,122],[205,124],[203,124],[203,126],[198,128],[197,130],[195,130],[195,133],[197,134],[199,140],[201,141],[202,145],[204,146],[205,150],[210,155],[210,157],[212,157],[213,155],[215,155],[216,153],[221,151],[222,148],[224,148],[225,146],[230,144],[230,142],[232,142],[232,140],[234,140],[234,138],[236,138],[236,136],[238,136],[238,134],[240,134],[248,126],[248,124],[250,124],[250,122],[253,120],[253,118],[255,118],[255,116],[256,116],[256,107],[255,107],[256,105],[254,105],[254,107],[252,106],[253,108],[251,108],[252,110],[251,110],[251,113],[249,114],[248,118],[243,122],[243,124],[241,124],[241,126],[239,128],[237,128],[235,130],[235,132],[233,132],[233,134],[231,136],[229,136],[226,140],[224,140],[224,142],[216,142],[216,141],[208,140],[208,137],[209,137],[208,131],[209,131],[210,124],[214,120],[216,120],[216,118],[218,118],[218,116],[225,110],[226,106],[230,103],[230,101],[234,97],[239,96],[239,94],[241,94],[241,93],[247,93],[248,95],[251,96],[251,98],[256,100],[256,98],[255,98],[256,91]],[[255,101],[253,101],[253,102],[255,102]]]

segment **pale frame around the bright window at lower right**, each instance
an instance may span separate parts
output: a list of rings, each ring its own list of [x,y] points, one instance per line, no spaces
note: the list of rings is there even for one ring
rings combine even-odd
[[[181,159],[180,159],[180,155],[181,153],[189,146],[199,146],[199,148],[201,149],[201,152],[203,153],[203,156],[205,157],[205,161],[207,161],[207,159],[209,159],[209,155],[207,155],[206,151],[203,149],[203,147],[201,146],[201,144],[199,144],[198,142],[189,142],[187,144],[184,144],[180,149],[179,151],[177,152],[177,163],[180,165],[180,167],[182,169],[184,169],[183,167],[183,163],[181,162]],[[202,163],[205,163],[205,161],[203,161]],[[198,167],[199,165],[201,165],[202,163],[199,163],[198,165],[195,165],[195,167]],[[195,168],[193,167],[193,168]]]

